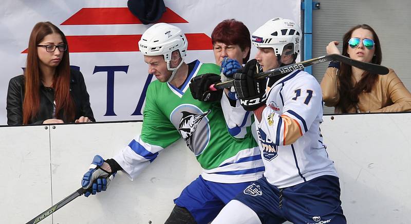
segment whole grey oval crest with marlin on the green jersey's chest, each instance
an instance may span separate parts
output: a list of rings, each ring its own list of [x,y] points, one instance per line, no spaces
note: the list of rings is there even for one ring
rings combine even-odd
[[[182,104],[170,115],[170,121],[196,156],[200,155],[210,142],[210,125],[207,118],[210,112],[211,110],[204,112],[192,104]]]

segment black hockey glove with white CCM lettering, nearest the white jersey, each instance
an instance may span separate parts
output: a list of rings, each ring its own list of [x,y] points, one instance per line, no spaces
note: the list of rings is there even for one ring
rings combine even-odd
[[[255,79],[259,72],[257,60],[253,59],[234,74],[234,88],[245,110],[253,111],[266,103],[266,79]]]

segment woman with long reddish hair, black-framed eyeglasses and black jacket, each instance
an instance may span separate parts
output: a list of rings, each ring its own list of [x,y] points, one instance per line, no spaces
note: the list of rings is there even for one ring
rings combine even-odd
[[[9,82],[7,124],[95,121],[83,75],[70,69],[66,36],[50,22],[31,31],[24,74]]]

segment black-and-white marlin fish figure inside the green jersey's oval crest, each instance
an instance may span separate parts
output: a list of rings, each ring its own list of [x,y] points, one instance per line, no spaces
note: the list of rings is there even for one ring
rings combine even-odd
[[[180,132],[180,135],[187,146],[190,147],[193,133],[196,131],[202,118],[210,113],[210,110],[200,115],[192,114],[189,111],[181,111],[181,113],[183,114],[183,117],[181,118],[178,132]],[[192,148],[190,148],[190,150],[194,152]]]

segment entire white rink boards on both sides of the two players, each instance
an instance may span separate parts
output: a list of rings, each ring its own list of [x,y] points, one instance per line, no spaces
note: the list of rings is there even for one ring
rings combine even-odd
[[[407,172],[411,114],[333,117],[324,116],[321,129],[327,152],[340,175],[348,223],[407,223],[411,214]],[[56,125],[44,132],[48,135],[50,130],[49,141],[40,135],[44,126],[0,127],[0,155],[7,158],[0,166],[7,179],[0,184],[0,210],[7,214],[2,223],[25,223],[51,206],[51,194],[56,203],[77,190],[95,154],[114,156],[140,128],[140,122]],[[49,142],[51,170],[50,154],[45,155],[50,153],[45,150]],[[22,163],[27,146],[32,147],[32,160]],[[34,163],[35,158],[38,160]],[[37,172],[35,177],[33,172]],[[48,217],[41,223],[164,223],[173,199],[199,173],[194,156],[178,141],[135,181],[119,173],[107,192],[74,199],[53,214],[53,222]],[[31,185],[39,180],[44,188],[33,188]]]

